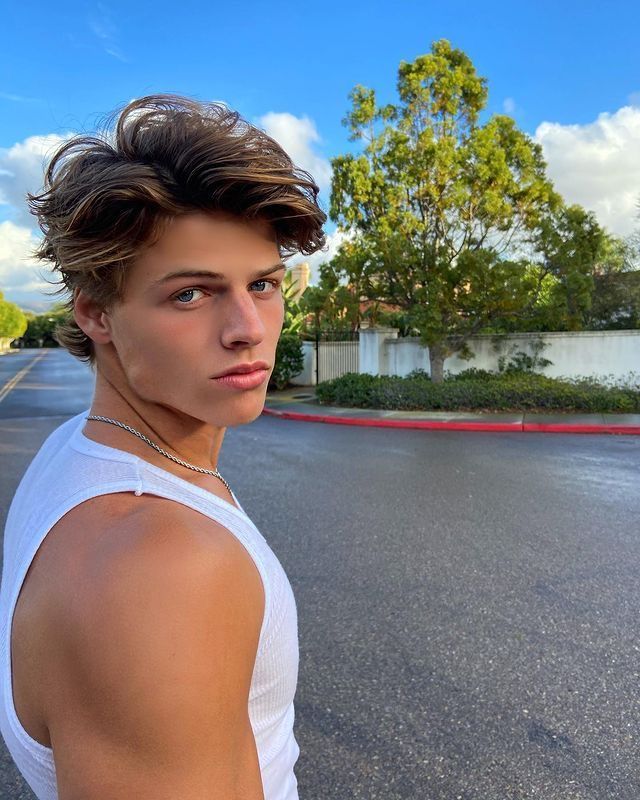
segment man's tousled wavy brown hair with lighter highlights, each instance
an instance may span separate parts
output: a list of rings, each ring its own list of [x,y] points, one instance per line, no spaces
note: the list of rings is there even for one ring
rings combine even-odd
[[[28,195],[44,240],[36,256],[102,308],[121,300],[127,268],[183,214],[224,211],[268,222],[282,258],[325,244],[319,188],[277,142],[222,103],[176,95],[134,100],[104,131],[75,136],[53,155],[44,190]],[[93,362],[73,318],[60,344]]]

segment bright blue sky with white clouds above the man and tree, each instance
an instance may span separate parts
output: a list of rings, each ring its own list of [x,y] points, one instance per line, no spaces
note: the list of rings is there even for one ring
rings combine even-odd
[[[543,144],[559,190],[628,233],[640,195],[639,29],[631,0],[12,3],[0,52],[0,289],[36,302],[20,198],[38,188],[57,137],[143,94],[223,100],[317,173],[326,205],[329,159],[353,147],[340,122],[349,91],[362,83],[392,101],[399,62],[439,38],[487,78],[487,113],[511,114]]]

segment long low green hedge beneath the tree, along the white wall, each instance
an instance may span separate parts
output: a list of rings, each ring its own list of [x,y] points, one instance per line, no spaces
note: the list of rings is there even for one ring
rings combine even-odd
[[[432,383],[424,375],[406,378],[349,373],[316,387],[320,403],[406,411],[584,411],[640,412],[640,390],[593,382],[549,378],[533,372],[465,370]]]

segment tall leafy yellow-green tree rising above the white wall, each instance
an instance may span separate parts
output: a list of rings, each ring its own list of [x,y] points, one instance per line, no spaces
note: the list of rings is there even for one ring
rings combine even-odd
[[[353,234],[340,256],[364,293],[407,312],[441,381],[470,336],[535,302],[532,243],[561,200],[512,119],[479,124],[486,81],[461,50],[435,42],[400,64],[397,88],[383,106],[352,91],[344,122],[362,152],[332,160],[330,213]]]

